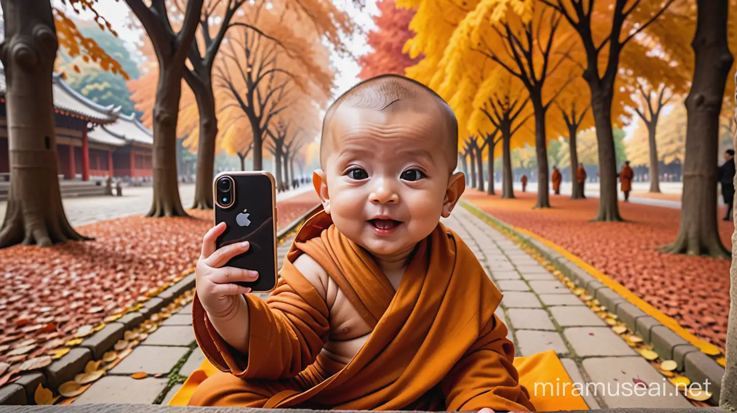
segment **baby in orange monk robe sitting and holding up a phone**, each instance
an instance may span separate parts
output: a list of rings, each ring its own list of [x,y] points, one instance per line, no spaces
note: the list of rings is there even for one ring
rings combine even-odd
[[[439,223],[464,192],[458,122],[435,92],[385,75],[328,109],[315,190],[264,302],[223,265],[248,246],[203,239],[195,336],[221,370],[199,406],[533,411],[494,311],[502,295]]]

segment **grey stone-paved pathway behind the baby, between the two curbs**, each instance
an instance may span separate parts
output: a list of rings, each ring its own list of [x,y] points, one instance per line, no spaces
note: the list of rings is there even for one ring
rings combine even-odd
[[[573,382],[603,383],[609,386],[610,393],[619,383],[633,383],[633,379],[658,383],[666,389],[664,396],[624,397],[601,395],[599,384],[599,394],[586,397],[591,409],[691,406],[677,395],[671,383],[663,382],[663,376],[654,367],[511,240],[463,208],[455,209],[444,223],[466,241],[503,291],[497,315],[509,327],[509,339],[514,341],[517,356],[553,349]],[[280,261],[290,245],[291,240],[286,240],[279,247]],[[195,344],[191,313],[189,304],[163,322],[74,403],[168,403],[184,378],[204,360]],[[136,372],[150,376],[131,378]],[[161,373],[161,378],[152,377]]]

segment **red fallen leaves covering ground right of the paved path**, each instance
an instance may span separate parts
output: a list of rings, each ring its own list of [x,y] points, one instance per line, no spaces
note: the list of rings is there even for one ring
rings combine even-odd
[[[724,349],[730,308],[730,260],[663,254],[656,250],[678,234],[680,209],[619,203],[628,222],[589,222],[598,199],[572,201],[551,195],[551,209],[532,209],[533,192],[501,199],[467,190],[464,199],[513,226],[562,246],[629,291],[666,313],[699,338]],[[719,211],[718,218],[722,217]],[[731,249],[733,223],[719,220],[719,235]]]

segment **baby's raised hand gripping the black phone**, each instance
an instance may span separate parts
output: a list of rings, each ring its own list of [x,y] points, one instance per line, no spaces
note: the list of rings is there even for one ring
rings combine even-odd
[[[202,253],[197,261],[197,296],[210,317],[223,318],[237,310],[237,300],[251,288],[234,284],[238,281],[255,281],[256,271],[223,267],[228,260],[248,251],[248,241],[216,249],[215,240],[226,229],[226,223],[212,227],[202,240]]]

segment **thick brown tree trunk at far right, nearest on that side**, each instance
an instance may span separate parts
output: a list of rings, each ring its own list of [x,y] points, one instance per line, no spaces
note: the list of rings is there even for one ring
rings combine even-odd
[[[716,178],[719,112],[733,63],[727,44],[728,2],[699,0],[696,14],[694,81],[685,100],[686,153],[678,237],[663,251],[730,257],[719,239]]]

